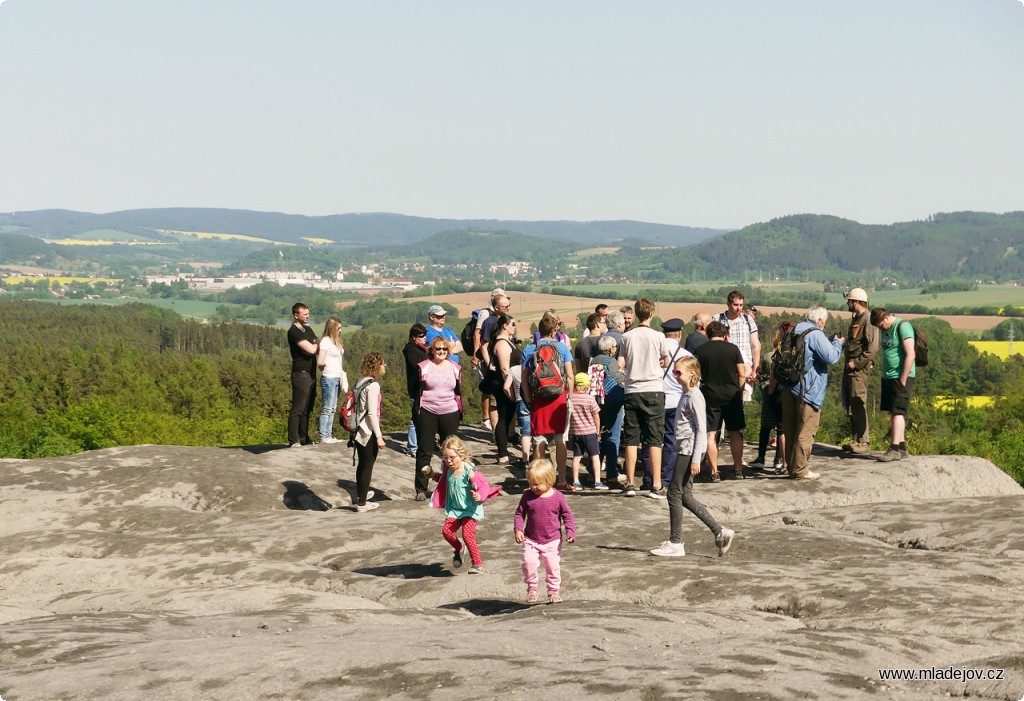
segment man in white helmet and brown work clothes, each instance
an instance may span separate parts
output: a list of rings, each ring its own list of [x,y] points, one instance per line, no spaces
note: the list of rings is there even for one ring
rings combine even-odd
[[[864,454],[871,449],[867,436],[867,376],[879,352],[879,335],[870,323],[867,293],[864,289],[854,288],[845,297],[853,318],[850,319],[844,348],[846,363],[843,365],[843,408],[850,418],[852,437],[849,450]]]

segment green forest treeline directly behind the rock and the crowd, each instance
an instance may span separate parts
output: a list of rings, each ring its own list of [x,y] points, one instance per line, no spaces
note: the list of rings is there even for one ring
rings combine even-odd
[[[401,348],[411,323],[422,321],[421,307],[374,300],[342,314],[346,323],[358,319],[366,326],[343,337],[350,381],[357,379],[365,353],[379,351],[387,361],[382,380],[387,432],[402,433],[409,423]],[[463,320],[450,316],[450,325],[461,328]],[[314,324],[317,335],[323,319]],[[759,319],[766,348],[775,328],[793,319],[781,314]],[[845,334],[846,323],[831,318],[825,331]],[[1024,483],[1024,358],[979,353],[941,319],[914,324],[928,335],[932,360],[915,381],[911,452],[979,455]],[[581,332],[578,325],[575,336]],[[205,324],[141,304],[0,302],[0,457],[141,443],[284,444],[290,364],[282,326]],[[840,408],[841,368],[837,363],[829,371],[818,440],[842,443],[849,427]],[[878,409],[880,377],[877,368],[869,393],[879,445],[888,427],[888,415]],[[464,376],[467,422],[479,420],[472,378]],[[974,395],[993,397],[994,403],[971,408],[966,398]],[[952,398],[954,410],[940,408],[938,397]],[[748,425],[758,426],[758,403],[748,410]]]

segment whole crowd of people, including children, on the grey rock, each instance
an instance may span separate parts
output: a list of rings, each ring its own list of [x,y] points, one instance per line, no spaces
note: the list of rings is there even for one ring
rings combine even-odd
[[[483,501],[500,492],[469,463],[458,436],[464,381],[480,389],[483,427],[493,432],[497,464],[516,463],[525,470],[529,486],[516,510],[515,535],[523,543],[522,569],[530,602],[539,599],[541,561],[549,600],[560,601],[561,527],[568,542],[575,528],[563,494],[584,489],[615,487],[625,496],[642,490],[652,499],[667,499],[669,539],[650,551],[652,555],[684,554],[681,528],[687,510],[712,531],[719,555],[724,556],[734,531],[719,524],[694,497],[694,481],[701,473],[708,482],[721,481],[720,439],[728,443],[733,479],[759,472],[801,482],[819,479],[810,469],[811,447],[828,366],[840,358],[845,359],[841,396],[851,436],[844,449],[870,452],[867,384],[881,359],[882,409],[891,415],[892,442],[876,457],[884,462],[907,457],[906,412],[916,369],[914,330],[884,308],[869,310],[867,293],[861,288],[847,293],[846,301],[852,315],[846,337],[825,335],[828,311],[815,305],[800,322],[782,323],[768,344],[761,341],[757,309],[745,304],[739,291],[729,294],[727,308],[720,314],[694,314],[685,339],[687,324],[682,319],[663,321],[660,331],[651,327],[656,309],[646,298],[620,309],[599,304],[588,315],[574,346],[552,309],[541,317],[532,337],[524,339],[521,350],[517,321],[504,290],[493,291],[488,306],[473,313],[462,338],[445,325],[444,307],[431,305],[429,325],[413,324],[402,349],[411,411],[406,449],[415,456],[416,499],[430,499],[445,510],[442,532],[455,551],[453,566],[462,564],[462,541],[457,536],[461,529],[471,558],[470,573],[479,571],[482,560],[475,524],[482,518]],[[292,313],[289,442],[293,447],[312,442],[308,427],[317,367],[324,398],[321,442],[337,442],[332,435],[334,415],[339,396],[348,389],[341,321],[330,317],[317,340],[307,325],[308,308],[296,304]],[[353,503],[359,512],[378,506],[370,500],[370,481],[378,450],[384,447],[379,380],[386,368],[380,353],[368,353],[353,388]],[[744,403],[753,400],[755,388],[761,394],[758,452],[748,464]],[[516,433],[518,451],[512,447]],[[775,459],[769,468],[767,451],[772,443]],[[438,445],[441,468],[435,470]],[[586,484],[583,466],[589,473]],[[638,470],[642,483],[637,481]],[[431,481],[437,483],[433,492]]]

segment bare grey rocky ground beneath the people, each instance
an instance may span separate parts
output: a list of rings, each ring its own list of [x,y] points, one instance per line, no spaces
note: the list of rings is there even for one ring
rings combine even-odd
[[[344,444],[0,461],[0,697],[1024,696],[1024,491],[985,461],[818,446],[818,482],[698,484],[736,530],[722,559],[689,516],[686,557],[649,556],[665,501],[570,495],[565,603],[527,606],[521,471],[463,436],[508,491],[486,505],[478,576],[452,570],[394,440],[365,514]],[[879,674],[933,667],[1004,671]]]

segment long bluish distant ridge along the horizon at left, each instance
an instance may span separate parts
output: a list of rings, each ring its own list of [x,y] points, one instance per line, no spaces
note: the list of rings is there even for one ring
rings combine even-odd
[[[114,229],[152,236],[156,229],[239,233],[279,242],[305,244],[304,238],[328,238],[343,246],[414,244],[441,231],[481,229],[515,231],[550,237],[578,246],[603,246],[636,239],[662,246],[690,246],[725,229],[694,228],[639,221],[505,221],[498,219],[428,219],[400,214],[299,214],[225,209],[146,209],[90,214],[69,210],[40,210],[0,214],[0,231],[38,237],[73,237],[95,229]]]

